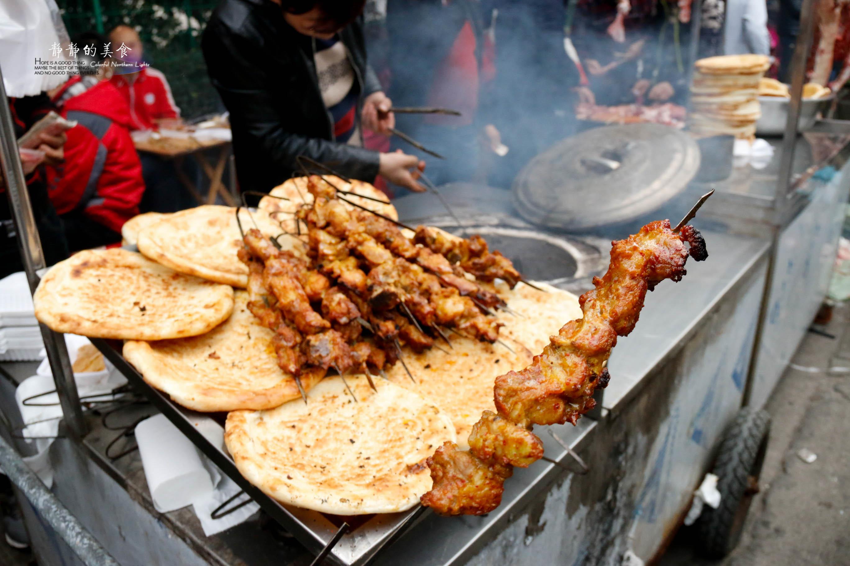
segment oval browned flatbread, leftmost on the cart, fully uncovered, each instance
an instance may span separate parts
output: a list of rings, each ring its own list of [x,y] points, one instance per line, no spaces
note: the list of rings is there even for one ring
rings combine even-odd
[[[233,311],[233,289],[174,272],[126,249],[88,249],[60,261],[33,296],[56,332],[161,340],[209,332]]]

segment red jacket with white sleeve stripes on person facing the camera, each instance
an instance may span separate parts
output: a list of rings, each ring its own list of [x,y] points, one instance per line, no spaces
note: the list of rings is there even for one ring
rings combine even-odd
[[[131,130],[156,130],[154,120],[180,117],[165,75],[151,67],[143,67],[135,75],[132,83],[126,75],[113,75],[110,80],[130,104]]]

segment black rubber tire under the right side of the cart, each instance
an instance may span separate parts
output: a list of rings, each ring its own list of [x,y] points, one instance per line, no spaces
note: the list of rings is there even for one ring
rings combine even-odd
[[[743,408],[723,434],[711,473],[717,475],[720,507],[706,505],[694,523],[700,550],[708,558],[723,558],[738,545],[768,451],[770,415]]]

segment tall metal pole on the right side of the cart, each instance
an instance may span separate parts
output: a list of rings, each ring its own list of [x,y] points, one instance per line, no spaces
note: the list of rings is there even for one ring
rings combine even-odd
[[[768,320],[770,309],[770,291],[774,285],[776,252],[779,249],[779,236],[782,233],[782,222],[785,221],[785,210],[788,206],[788,189],[791,186],[791,172],[794,165],[794,151],[797,142],[797,126],[800,121],[800,106],[802,86],[806,81],[806,62],[809,47],[814,35],[814,3],[815,0],[803,0],[800,11],[800,34],[797,36],[794,56],[791,59],[791,102],[788,106],[788,118],[785,120],[785,136],[782,138],[782,153],[779,154],[779,173],[776,178],[776,195],[774,197],[774,218],[768,249],[768,271],[765,275],[762,303],[759,306],[756,335],[752,343],[750,367],[744,386],[742,406],[750,405],[752,388],[756,380],[758,353],[762,349],[764,326]]]

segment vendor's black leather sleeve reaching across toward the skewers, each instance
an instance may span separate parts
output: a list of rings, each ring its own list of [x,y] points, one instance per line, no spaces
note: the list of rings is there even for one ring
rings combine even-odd
[[[201,48],[212,85],[230,112],[231,124],[258,141],[269,156],[269,167],[297,171],[297,156],[306,155],[348,177],[370,182],[377,177],[377,152],[286,130],[282,113],[296,110],[280,108],[281,93],[272,92],[265,84],[267,70],[253,56],[258,51],[256,46],[211,23]]]

